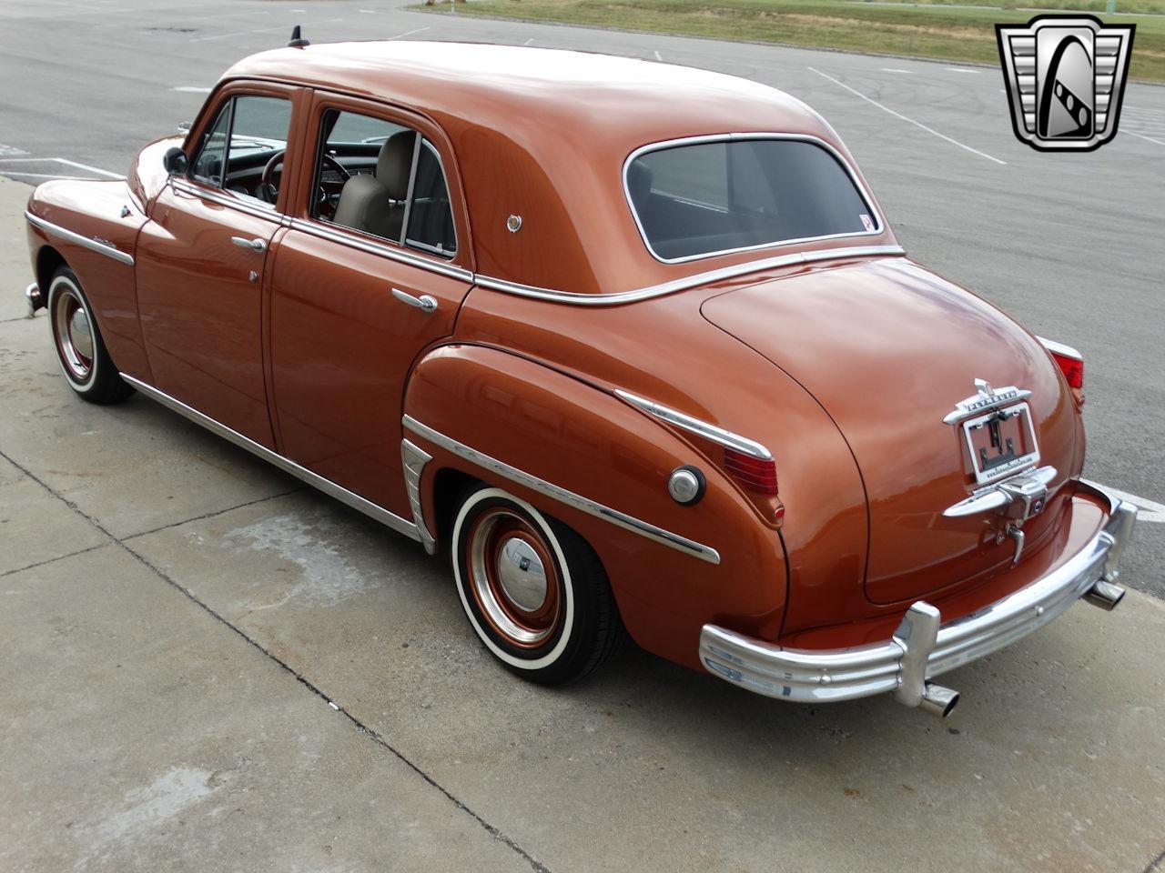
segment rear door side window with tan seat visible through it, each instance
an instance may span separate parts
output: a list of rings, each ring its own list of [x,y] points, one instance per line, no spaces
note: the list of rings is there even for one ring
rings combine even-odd
[[[457,254],[440,158],[416,130],[329,109],[316,155],[313,218],[442,257]]]

